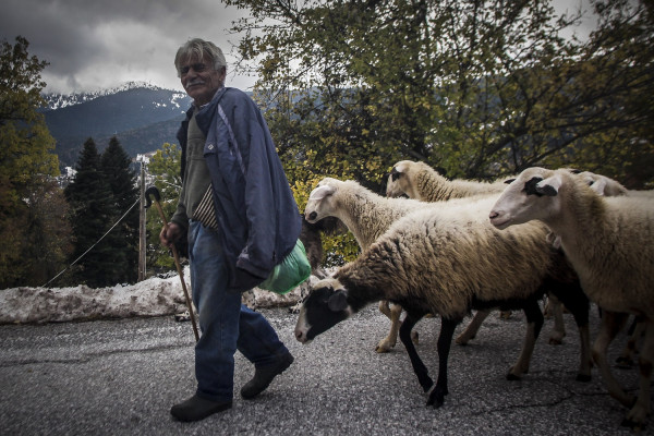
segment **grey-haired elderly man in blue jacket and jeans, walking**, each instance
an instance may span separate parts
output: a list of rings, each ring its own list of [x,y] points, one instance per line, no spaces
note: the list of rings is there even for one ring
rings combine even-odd
[[[196,392],[170,412],[180,421],[198,421],[231,408],[237,350],[255,366],[241,389],[245,399],[293,362],[266,318],[241,304],[241,292],[266,279],[291,252],[301,218],[259,109],[243,92],[225,87],[221,50],[191,39],[174,64],[193,106],[178,132],[182,192],[159,238],[170,246],[187,232],[202,336],[195,346]]]

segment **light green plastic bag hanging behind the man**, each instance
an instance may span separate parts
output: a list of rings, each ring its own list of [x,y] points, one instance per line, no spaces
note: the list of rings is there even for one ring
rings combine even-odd
[[[304,244],[298,240],[289,255],[275,266],[272,272],[258,288],[283,295],[295,289],[308,276],[311,276],[311,265],[306,258]]]

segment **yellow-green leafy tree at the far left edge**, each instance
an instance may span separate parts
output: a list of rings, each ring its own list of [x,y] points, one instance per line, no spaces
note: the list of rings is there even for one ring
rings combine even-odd
[[[52,177],[59,174],[58,159],[51,150],[55,140],[38,112],[45,83],[40,72],[48,64],[29,57],[28,43],[19,36],[15,45],[0,47],[0,287],[25,283],[33,278],[23,257],[33,252],[29,240],[44,227],[33,219],[40,216],[34,207],[34,193],[53,193]],[[29,201],[32,198],[32,201]],[[52,220],[62,217],[50,216]],[[62,225],[63,226],[63,225]],[[58,227],[55,225],[53,227]],[[52,235],[38,234],[53,242]]]

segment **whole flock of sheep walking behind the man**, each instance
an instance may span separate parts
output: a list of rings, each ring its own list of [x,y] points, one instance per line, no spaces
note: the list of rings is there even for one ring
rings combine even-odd
[[[540,302],[547,294],[555,315],[550,342],[565,335],[561,303],[579,328],[578,380],[591,379],[594,362],[609,393],[629,409],[622,425],[644,427],[654,363],[654,192],[628,191],[606,177],[569,169],[530,168],[506,182],[450,181],[425,164],[404,160],[393,167],[386,196],[354,181],[323,179],[304,217],[314,223],[338,219],[361,254],[314,284],[298,318],[299,341],[379,302],[391,327],[377,351],[388,351],[399,335],[419,383],[425,392],[431,389],[427,404],[439,407],[448,393],[451,341],[463,318],[476,311],[458,343],[474,338],[492,310],[524,312],[525,340],[507,374],[519,379],[529,371],[543,326]],[[591,302],[602,311],[592,346]],[[413,337],[413,327],[428,314],[441,319],[435,386]],[[629,315],[644,334],[638,398],[619,386],[606,358]]]

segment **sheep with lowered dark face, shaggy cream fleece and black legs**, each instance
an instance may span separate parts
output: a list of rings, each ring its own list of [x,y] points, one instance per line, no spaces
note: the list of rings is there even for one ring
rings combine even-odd
[[[398,219],[334,278],[313,287],[300,312],[296,339],[307,342],[371,302],[398,303],[407,311],[400,339],[427,391],[433,382],[410,334],[423,315],[440,315],[438,380],[428,401],[438,407],[448,393],[447,362],[457,325],[471,310],[520,308],[526,315],[528,331],[507,376],[520,378],[529,371],[543,325],[538,301],[546,288],[556,282],[561,289],[567,284],[569,294],[582,292],[574,275],[570,282],[558,283],[565,257],[546,242],[547,228],[525,225],[510,233],[499,231],[482,211],[494,202],[495,197],[443,202]],[[582,340],[590,340],[588,324]],[[582,373],[590,376],[590,355],[582,356]]]

